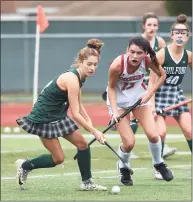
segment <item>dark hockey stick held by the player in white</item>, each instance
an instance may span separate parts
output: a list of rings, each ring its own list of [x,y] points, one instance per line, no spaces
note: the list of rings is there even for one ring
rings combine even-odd
[[[123,114],[121,114],[118,118],[117,121],[119,122],[122,118],[124,118],[127,114],[129,114],[133,109],[135,109],[135,107],[137,107],[139,104],[141,103],[141,99],[139,99],[133,106],[129,107]],[[112,123],[105,129],[102,131],[102,133],[106,133],[111,127],[113,127],[116,124],[116,121],[113,120]],[[89,143],[88,146],[90,146],[92,143],[94,143],[96,141],[96,138],[93,138]],[[74,156],[74,160],[77,159],[77,153]]]

